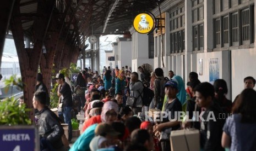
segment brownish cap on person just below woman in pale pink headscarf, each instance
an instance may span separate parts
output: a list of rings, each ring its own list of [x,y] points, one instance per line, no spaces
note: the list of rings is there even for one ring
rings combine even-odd
[[[100,135],[100,136],[105,136],[105,135],[110,135],[110,136],[118,136],[120,133],[116,132],[113,127],[107,123],[100,123],[97,125],[95,129],[95,135]]]

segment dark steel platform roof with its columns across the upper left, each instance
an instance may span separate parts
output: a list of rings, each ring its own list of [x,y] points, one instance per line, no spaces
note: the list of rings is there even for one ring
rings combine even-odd
[[[157,0],[8,0],[0,5],[0,54],[6,33],[13,34],[25,103],[32,108],[40,66],[50,88],[52,69],[77,62],[91,35],[129,35],[134,16],[157,7]],[[45,48],[45,53],[42,52]],[[1,57],[0,57],[1,62]],[[33,117],[32,114],[31,119]]]

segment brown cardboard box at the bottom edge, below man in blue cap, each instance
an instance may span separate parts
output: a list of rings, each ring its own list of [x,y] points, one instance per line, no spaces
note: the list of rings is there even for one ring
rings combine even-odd
[[[200,150],[200,134],[197,129],[172,131],[170,140],[172,151]]]

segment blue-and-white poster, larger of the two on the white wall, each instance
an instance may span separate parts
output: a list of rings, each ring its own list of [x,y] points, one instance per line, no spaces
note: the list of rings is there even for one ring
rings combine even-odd
[[[209,60],[209,76],[210,82],[220,78],[219,59],[210,58]]]

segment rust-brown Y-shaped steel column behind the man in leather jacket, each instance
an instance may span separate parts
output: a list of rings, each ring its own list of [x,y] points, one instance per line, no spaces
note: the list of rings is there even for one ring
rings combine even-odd
[[[51,20],[52,10],[55,5],[55,1],[38,1],[39,8],[37,13],[42,15],[41,19],[37,19],[34,22],[33,30],[33,42],[34,48],[24,47],[24,30],[21,25],[20,16],[20,1],[16,1],[14,4],[13,15],[10,20],[10,26],[13,33],[15,47],[19,57],[21,78],[24,85],[24,100],[29,108],[32,106],[32,98],[35,92],[36,73],[39,67],[39,62],[42,54],[42,45],[47,32],[49,22]],[[34,120],[34,109],[29,113],[31,120]]]

